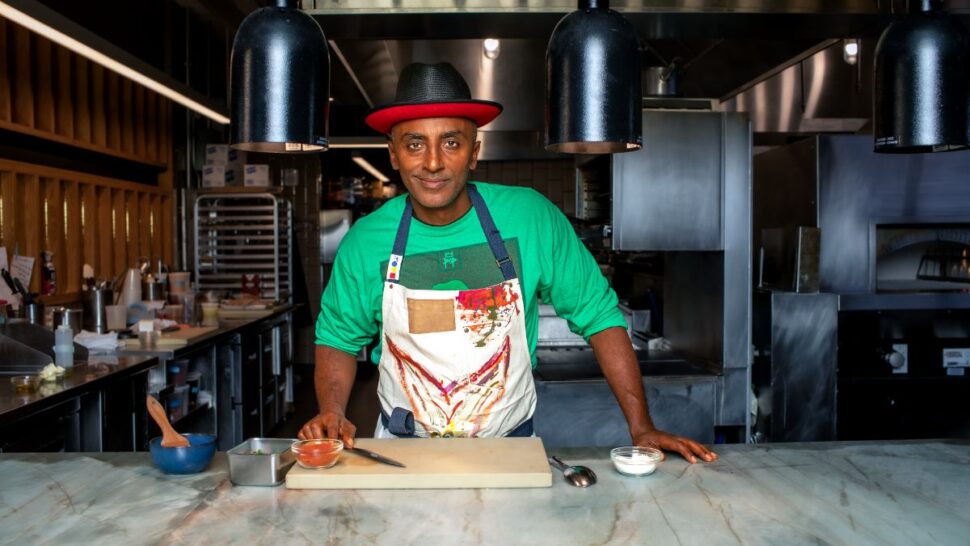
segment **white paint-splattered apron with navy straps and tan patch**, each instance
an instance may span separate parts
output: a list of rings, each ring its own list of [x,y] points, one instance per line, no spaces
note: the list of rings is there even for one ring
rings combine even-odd
[[[412,416],[419,437],[522,435],[526,426],[531,434],[536,394],[522,288],[485,201],[473,184],[468,194],[505,280],[474,290],[403,286],[413,217],[407,201],[384,283],[379,436]]]

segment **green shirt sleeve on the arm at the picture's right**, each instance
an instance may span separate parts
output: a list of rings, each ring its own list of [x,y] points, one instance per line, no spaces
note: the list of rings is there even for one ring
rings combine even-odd
[[[539,295],[566,319],[569,329],[589,340],[593,334],[618,326],[626,328],[623,313],[617,307],[616,293],[610,288],[599,265],[583,245],[566,216],[552,203],[539,215],[546,233]]]

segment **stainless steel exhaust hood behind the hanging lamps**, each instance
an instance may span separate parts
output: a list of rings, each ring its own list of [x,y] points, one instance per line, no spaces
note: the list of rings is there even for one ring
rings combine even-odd
[[[389,102],[407,63],[446,61],[462,73],[476,98],[505,107],[481,132],[480,159],[569,157],[542,147],[543,62],[553,28],[575,9],[575,0],[305,0],[303,5],[330,39],[333,110],[350,109],[354,115],[348,119]],[[612,0],[610,6],[637,30],[645,81],[651,70],[675,64],[679,97],[709,99],[715,107],[728,102],[724,109],[752,115],[756,131],[785,133],[867,127],[872,49],[905,2]],[[958,20],[970,20],[970,0],[950,0],[946,8]],[[486,38],[500,41],[495,59],[485,55]],[[854,66],[842,59],[846,38],[862,44]],[[829,47],[834,49],[826,52]],[[651,88],[645,87],[645,94]],[[848,99],[840,102],[839,93],[849,93]],[[802,99],[815,101],[805,103],[812,111],[800,112]],[[772,102],[782,106],[777,113],[770,112]],[[656,101],[648,98],[645,104]],[[362,124],[351,125],[332,122],[331,135],[377,136]]]

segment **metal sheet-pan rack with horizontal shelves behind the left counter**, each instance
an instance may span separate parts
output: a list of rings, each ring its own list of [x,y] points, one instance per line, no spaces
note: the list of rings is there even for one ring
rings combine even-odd
[[[238,290],[258,273],[261,297],[289,301],[292,205],[271,193],[217,193],[195,198],[195,278],[200,290]]]

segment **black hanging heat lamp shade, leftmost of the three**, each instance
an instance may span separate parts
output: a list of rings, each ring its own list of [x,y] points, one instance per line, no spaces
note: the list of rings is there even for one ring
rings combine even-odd
[[[229,62],[229,143],[252,152],[328,148],[330,49],[293,0],[243,20]]]

